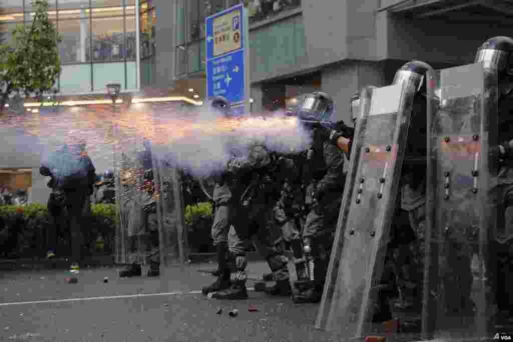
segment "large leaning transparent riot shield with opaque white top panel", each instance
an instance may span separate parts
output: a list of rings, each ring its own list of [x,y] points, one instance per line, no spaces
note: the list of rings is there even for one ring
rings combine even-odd
[[[372,323],[406,145],[415,87],[362,91],[356,149],[346,180],[317,327],[341,339],[385,334]]]

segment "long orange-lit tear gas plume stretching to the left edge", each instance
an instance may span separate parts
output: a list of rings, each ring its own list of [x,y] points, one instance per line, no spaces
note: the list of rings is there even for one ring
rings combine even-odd
[[[152,142],[157,157],[196,177],[223,171],[230,157],[247,155],[252,144],[278,153],[301,151],[311,144],[311,133],[284,113],[228,119],[206,106],[180,111],[169,105],[132,105],[117,113],[109,105],[71,108],[4,115],[2,124],[37,136],[44,146],[43,159],[63,145],[85,143],[97,172],[102,172],[100,165],[112,167],[114,150],[133,160],[144,149],[143,138]]]

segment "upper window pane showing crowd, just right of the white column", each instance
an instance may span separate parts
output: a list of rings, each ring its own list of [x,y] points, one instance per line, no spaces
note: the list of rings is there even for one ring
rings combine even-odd
[[[123,17],[92,19],[92,42],[93,61],[123,59]]]

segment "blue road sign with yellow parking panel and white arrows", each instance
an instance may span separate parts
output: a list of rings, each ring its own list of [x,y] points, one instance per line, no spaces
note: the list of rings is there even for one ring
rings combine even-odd
[[[244,5],[236,5],[206,19],[207,96],[244,102],[246,64]]]

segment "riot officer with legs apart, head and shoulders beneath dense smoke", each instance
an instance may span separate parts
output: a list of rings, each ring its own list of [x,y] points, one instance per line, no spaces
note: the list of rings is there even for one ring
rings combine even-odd
[[[291,293],[288,259],[284,251],[276,249],[278,237],[273,218],[273,207],[283,186],[284,170],[279,168],[277,157],[263,144],[255,142],[249,147],[248,156],[233,157],[227,170],[234,176],[233,225],[228,234],[230,287],[215,292],[217,299],[246,299],[247,252],[251,240],[265,257],[272,271],[274,286],[265,288],[271,295],[289,296]]]

